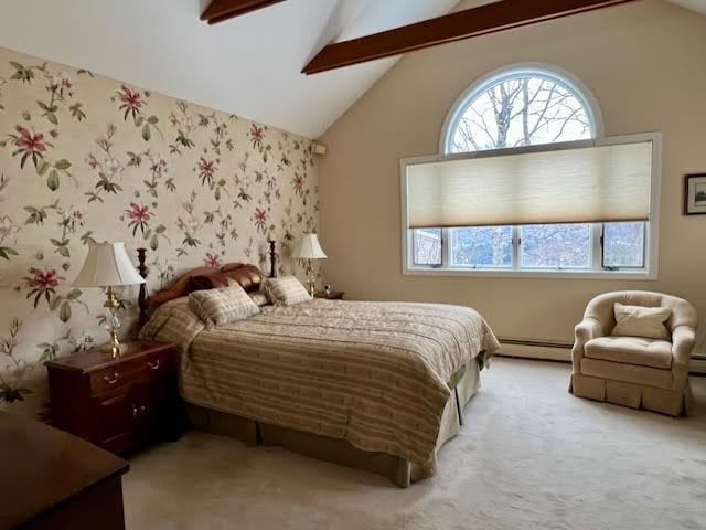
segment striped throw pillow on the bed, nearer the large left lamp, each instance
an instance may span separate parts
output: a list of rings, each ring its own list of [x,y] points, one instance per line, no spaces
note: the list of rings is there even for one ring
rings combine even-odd
[[[208,328],[260,312],[257,304],[239,285],[222,289],[196,290],[189,295],[189,307]]]

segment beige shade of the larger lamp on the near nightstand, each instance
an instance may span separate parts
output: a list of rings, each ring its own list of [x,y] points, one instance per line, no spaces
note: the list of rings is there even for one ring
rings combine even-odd
[[[76,287],[111,287],[143,284],[125,250],[125,243],[92,243],[84,266],[76,276]]]

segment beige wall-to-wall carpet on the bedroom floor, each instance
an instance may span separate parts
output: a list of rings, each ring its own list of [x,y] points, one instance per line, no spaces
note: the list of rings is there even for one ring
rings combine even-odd
[[[566,364],[496,359],[430,480],[189,433],[135,457],[137,529],[706,529],[706,379],[687,420],[567,393]]]

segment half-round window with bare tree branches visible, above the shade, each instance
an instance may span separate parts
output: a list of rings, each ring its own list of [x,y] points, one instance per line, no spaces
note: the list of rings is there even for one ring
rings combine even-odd
[[[471,87],[447,119],[445,153],[595,138],[597,112],[568,74],[518,67]]]

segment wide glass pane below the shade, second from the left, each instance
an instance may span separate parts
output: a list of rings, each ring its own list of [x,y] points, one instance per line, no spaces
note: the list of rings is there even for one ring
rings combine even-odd
[[[511,267],[512,226],[452,229],[451,265]]]

